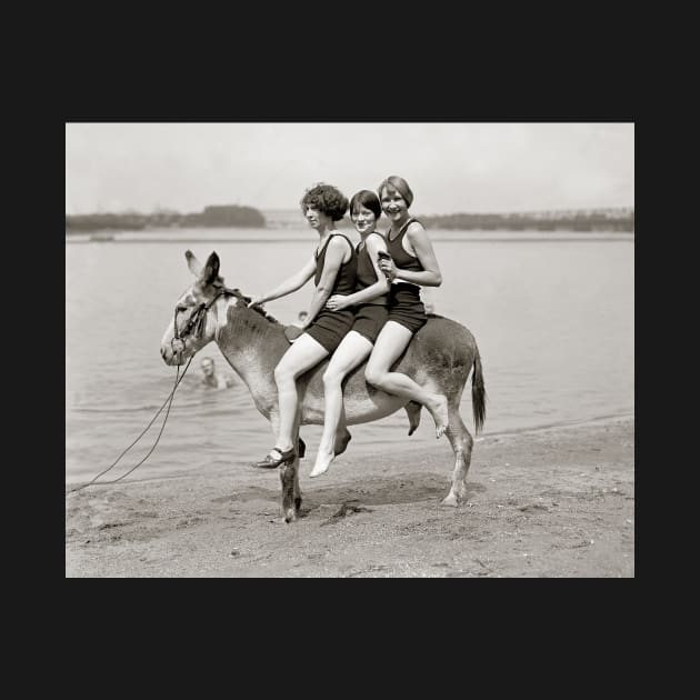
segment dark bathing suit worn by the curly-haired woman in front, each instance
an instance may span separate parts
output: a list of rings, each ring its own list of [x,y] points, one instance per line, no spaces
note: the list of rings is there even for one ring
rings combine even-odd
[[[341,238],[344,238],[346,241],[348,241],[348,246],[350,246],[350,251],[352,252],[352,256],[350,260],[348,260],[348,262],[343,262],[340,266],[330,297],[332,297],[333,294],[348,296],[354,291],[358,258],[354,252],[354,248],[352,247],[352,243],[350,242],[348,237],[343,236],[342,233],[331,233],[328,237],[328,240],[326,241],[323,248],[317,252],[316,276],[313,278],[313,283],[318,287],[319,282],[321,281],[323,264],[326,263],[326,249],[328,248],[328,243],[330,243],[331,238],[333,238],[334,236],[340,236]],[[346,333],[350,330],[353,320],[354,312],[352,309],[331,311],[330,309],[323,308],[313,319],[311,326],[307,328],[306,332],[309,333],[309,336],[311,336],[313,340],[323,346],[323,348],[330,354],[333,352],[333,350],[336,350],[336,348],[340,344],[340,341],[344,338]]]

